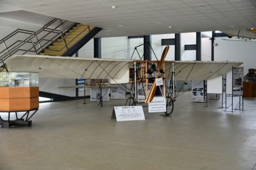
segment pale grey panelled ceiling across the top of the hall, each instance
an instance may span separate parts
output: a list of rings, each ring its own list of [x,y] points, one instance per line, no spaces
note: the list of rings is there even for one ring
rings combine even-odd
[[[98,37],[256,27],[255,0],[0,0],[1,4],[101,27]]]

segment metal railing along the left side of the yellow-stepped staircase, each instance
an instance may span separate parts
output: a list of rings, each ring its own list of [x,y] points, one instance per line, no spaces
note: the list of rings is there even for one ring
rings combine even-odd
[[[38,54],[60,37],[65,42],[63,48],[68,49],[65,33],[76,24],[55,18],[36,32],[17,29],[0,40],[0,59],[5,61],[12,55]]]

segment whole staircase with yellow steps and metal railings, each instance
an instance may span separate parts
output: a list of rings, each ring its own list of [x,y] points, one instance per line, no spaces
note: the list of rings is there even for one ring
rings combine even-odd
[[[59,18],[36,32],[17,29],[0,40],[0,60],[25,54],[72,56],[100,30]]]

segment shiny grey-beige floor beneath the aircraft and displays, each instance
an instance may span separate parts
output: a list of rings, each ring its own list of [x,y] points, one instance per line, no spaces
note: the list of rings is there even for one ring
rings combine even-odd
[[[41,103],[32,127],[0,129],[0,169],[256,169],[256,99],[232,113],[190,96],[171,117],[144,107],[146,120],[123,122],[110,117],[124,100]]]

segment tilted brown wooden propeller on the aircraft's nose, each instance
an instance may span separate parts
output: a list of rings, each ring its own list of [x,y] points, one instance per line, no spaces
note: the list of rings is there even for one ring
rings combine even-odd
[[[168,53],[168,50],[169,50],[169,46],[166,46],[165,49],[163,50],[161,60],[158,63],[158,66],[157,66],[157,71],[158,72],[160,72],[160,69],[162,68],[163,61],[165,61],[165,57],[166,57],[166,55]],[[156,76],[156,78],[157,78],[157,76]],[[155,91],[156,90],[157,90],[157,84],[154,81],[154,83],[152,84],[152,87],[151,87],[151,89],[149,91],[149,94],[148,94],[148,96],[147,96],[147,98],[145,100],[145,103],[150,103],[153,100],[153,98],[155,96]]]

